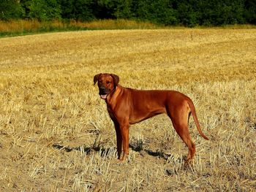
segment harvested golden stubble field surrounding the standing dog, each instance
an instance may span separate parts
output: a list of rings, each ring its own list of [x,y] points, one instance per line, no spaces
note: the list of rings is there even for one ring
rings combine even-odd
[[[0,39],[0,191],[255,191],[256,30],[80,31]],[[165,115],[130,128],[129,161],[94,74],[195,103],[197,153]]]

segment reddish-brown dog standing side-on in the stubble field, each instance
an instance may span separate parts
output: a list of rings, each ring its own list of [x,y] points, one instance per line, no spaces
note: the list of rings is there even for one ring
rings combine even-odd
[[[172,120],[173,127],[189,148],[187,161],[195,155],[195,144],[189,135],[188,121],[192,116],[197,130],[208,138],[200,129],[195,106],[189,97],[178,91],[140,91],[118,85],[116,74],[97,74],[94,85],[98,82],[99,96],[105,99],[108,113],[116,128],[118,159],[123,161],[129,153],[129,125],[138,123],[160,113],[166,113]],[[124,154],[121,157],[121,147]]]

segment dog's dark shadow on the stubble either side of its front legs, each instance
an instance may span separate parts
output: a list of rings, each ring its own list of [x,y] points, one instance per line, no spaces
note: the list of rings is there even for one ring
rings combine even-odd
[[[136,152],[139,153],[147,153],[148,155],[154,156],[154,157],[158,157],[158,158],[164,158],[165,160],[167,160],[168,158],[170,158],[171,155],[169,154],[165,154],[164,152],[162,152],[162,150],[157,150],[157,151],[153,151],[153,150],[149,150],[149,149],[143,149],[142,145],[138,145],[135,143],[129,144],[129,147]],[[81,153],[84,153],[86,155],[90,155],[93,152],[97,152],[100,153],[100,156],[107,156],[110,153],[116,153],[116,148],[114,147],[108,147],[108,148],[104,148],[104,147],[99,147],[99,146],[92,146],[92,147],[86,147],[86,146],[78,146],[78,147],[69,147],[69,146],[64,146],[64,145],[60,145],[60,144],[53,144],[53,148],[57,149],[57,150],[64,150],[66,152],[71,152],[74,150],[78,150]]]

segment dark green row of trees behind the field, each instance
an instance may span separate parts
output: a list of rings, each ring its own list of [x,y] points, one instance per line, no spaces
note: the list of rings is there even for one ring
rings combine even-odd
[[[256,24],[256,0],[1,0],[0,20],[128,19],[165,26]]]

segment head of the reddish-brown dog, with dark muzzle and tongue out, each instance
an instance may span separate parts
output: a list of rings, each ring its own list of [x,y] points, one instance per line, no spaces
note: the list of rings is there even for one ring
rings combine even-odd
[[[96,82],[98,82],[100,98],[107,99],[108,94],[116,89],[119,77],[116,74],[100,73],[94,76],[94,85]]]

